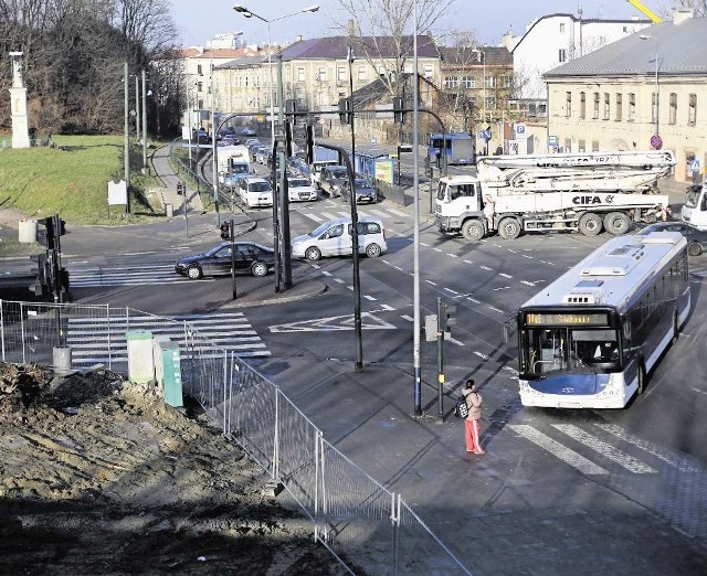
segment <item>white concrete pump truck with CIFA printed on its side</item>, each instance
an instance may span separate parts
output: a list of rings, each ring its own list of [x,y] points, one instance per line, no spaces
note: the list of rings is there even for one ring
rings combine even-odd
[[[442,233],[478,241],[492,232],[568,230],[624,234],[632,222],[667,216],[655,183],[669,173],[671,152],[590,152],[484,158],[477,177],[440,179],[435,220]]]

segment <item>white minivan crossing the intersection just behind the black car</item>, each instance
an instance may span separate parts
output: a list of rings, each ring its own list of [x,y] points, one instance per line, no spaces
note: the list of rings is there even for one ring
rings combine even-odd
[[[309,234],[292,241],[295,258],[318,260],[323,256],[350,256],[354,253],[351,218],[325,222]],[[359,253],[376,258],[388,250],[383,221],[376,216],[360,216],[358,221]]]

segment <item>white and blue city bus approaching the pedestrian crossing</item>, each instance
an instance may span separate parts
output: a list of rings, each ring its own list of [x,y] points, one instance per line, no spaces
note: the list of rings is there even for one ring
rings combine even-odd
[[[612,238],[518,310],[520,401],[622,408],[687,320],[682,234]]]

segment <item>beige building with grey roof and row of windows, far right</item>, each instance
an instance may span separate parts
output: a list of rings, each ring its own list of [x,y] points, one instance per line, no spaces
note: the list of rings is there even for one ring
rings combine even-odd
[[[704,174],[706,55],[707,19],[679,10],[671,21],[547,72],[548,147],[581,152],[661,143],[675,152],[677,181],[690,180],[693,158]]]

